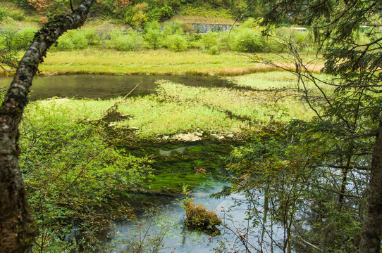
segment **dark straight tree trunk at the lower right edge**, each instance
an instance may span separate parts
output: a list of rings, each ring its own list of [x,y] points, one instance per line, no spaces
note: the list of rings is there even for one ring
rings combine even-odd
[[[382,236],[382,115],[374,144],[359,252],[379,253]]]

